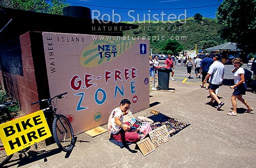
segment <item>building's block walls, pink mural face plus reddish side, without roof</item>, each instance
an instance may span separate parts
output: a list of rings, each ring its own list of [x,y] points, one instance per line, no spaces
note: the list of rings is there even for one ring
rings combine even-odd
[[[58,101],[58,110],[77,133],[108,122],[111,110],[123,98],[133,101],[134,113],[148,108],[148,52],[141,50],[148,51],[149,42],[94,38],[27,32],[0,46],[7,91],[20,102],[25,114],[39,110],[32,102],[68,92],[67,99]],[[6,46],[9,49],[3,49]],[[113,52],[108,59],[109,47]],[[74,76],[79,79],[72,81]],[[74,89],[77,80],[82,81],[78,90]]]

